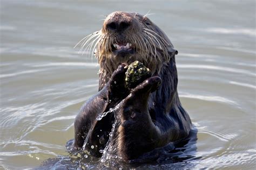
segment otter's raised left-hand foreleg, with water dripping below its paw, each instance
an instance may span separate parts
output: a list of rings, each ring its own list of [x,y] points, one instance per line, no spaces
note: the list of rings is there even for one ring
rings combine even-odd
[[[90,144],[95,144],[96,141],[98,142],[98,140],[96,140],[99,139],[97,134],[98,130],[102,130],[102,133],[107,131],[106,126],[111,123],[110,119],[112,116],[107,115],[102,120],[97,120],[96,118],[99,114],[106,112],[117,105],[117,103],[127,96],[128,91],[124,88],[124,73],[126,70],[126,64],[120,65],[117,70],[114,71],[109,82],[106,83],[104,88],[95,96],[92,96],[80,109],[80,112],[75,119],[74,146],[78,150],[84,145],[85,138],[91,128],[92,132],[88,141]],[[102,145],[105,145],[105,143],[106,141],[104,141]]]

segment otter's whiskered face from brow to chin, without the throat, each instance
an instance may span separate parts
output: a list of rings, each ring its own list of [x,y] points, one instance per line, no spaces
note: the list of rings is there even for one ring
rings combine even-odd
[[[144,65],[163,62],[168,58],[167,46],[172,46],[164,33],[151,20],[138,13],[113,12],[104,21],[102,39],[98,43],[98,58],[112,63],[139,60]]]

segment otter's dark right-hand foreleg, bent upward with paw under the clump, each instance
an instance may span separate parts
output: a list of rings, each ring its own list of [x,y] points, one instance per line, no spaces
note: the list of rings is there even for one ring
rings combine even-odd
[[[118,128],[118,154],[124,160],[137,158],[159,147],[161,132],[152,122],[148,98],[161,82],[160,77],[150,77],[131,91],[120,109]]]

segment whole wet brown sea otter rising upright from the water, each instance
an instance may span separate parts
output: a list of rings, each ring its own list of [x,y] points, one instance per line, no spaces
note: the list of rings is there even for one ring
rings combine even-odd
[[[117,11],[83,40],[82,48],[96,48],[99,91],[75,119],[77,150],[84,146],[101,157],[111,144],[112,150],[105,151],[129,161],[188,136],[192,124],[177,92],[178,52],[157,25],[138,13]],[[142,62],[152,76],[127,88],[125,72],[134,61]]]

